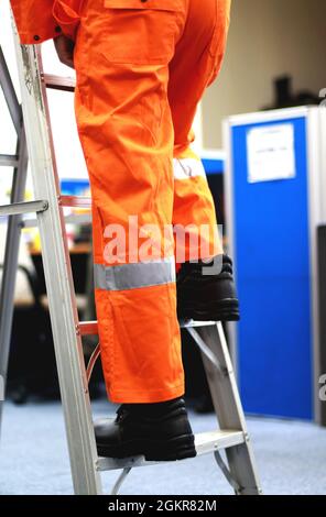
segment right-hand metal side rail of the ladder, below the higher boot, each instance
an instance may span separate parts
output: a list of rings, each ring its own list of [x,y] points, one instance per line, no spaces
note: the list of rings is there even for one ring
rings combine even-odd
[[[238,494],[261,494],[244,414],[222,326],[217,323],[211,327],[203,327],[198,330],[198,333],[217,358],[224,371],[221,375],[220,371],[216,369],[207,355],[203,354],[204,366],[219,426],[221,429],[242,431],[246,438],[243,443],[226,450],[229,473],[236,482],[233,486],[239,486]]]

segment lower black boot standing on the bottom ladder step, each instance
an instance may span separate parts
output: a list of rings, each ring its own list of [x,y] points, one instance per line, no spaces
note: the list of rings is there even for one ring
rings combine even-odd
[[[194,458],[196,449],[183,398],[123,404],[117,418],[95,424],[97,451],[106,458],[144,455],[148,461]]]

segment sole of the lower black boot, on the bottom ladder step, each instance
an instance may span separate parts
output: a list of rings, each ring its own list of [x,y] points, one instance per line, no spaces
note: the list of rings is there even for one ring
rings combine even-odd
[[[195,458],[197,454],[193,435],[183,435],[171,440],[132,440],[116,447],[98,443],[97,452],[99,457],[117,459],[143,455],[146,461],[177,461]]]

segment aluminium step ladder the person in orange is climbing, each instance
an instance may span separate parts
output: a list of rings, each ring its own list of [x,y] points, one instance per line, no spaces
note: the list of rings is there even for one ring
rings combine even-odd
[[[86,370],[82,336],[96,334],[97,322],[78,320],[63,212],[64,207],[90,208],[90,199],[61,194],[46,97],[46,88],[73,91],[74,80],[45,75],[40,47],[20,45],[17,35],[15,38],[36,200],[1,207],[0,213],[34,211],[37,215],[75,493],[101,494],[100,472],[119,470],[121,473],[112,488],[112,494],[117,494],[131,469],[153,462],[146,462],[142,457],[126,460],[98,458],[96,451],[88,378],[98,350]],[[260,494],[251,443],[221,323],[191,321],[184,322],[182,327],[187,329],[202,351],[219,422],[216,430],[196,436],[197,453],[215,455],[236,494]],[[226,451],[227,462],[220,455],[221,450]]]

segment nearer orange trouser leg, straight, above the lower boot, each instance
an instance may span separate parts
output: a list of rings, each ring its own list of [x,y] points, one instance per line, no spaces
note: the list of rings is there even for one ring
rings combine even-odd
[[[75,106],[93,195],[101,361],[115,403],[184,393],[175,261],[173,246],[162,244],[171,234],[162,238],[172,223],[174,188],[169,63],[188,2],[163,3],[88,0],[76,40]],[[155,252],[141,262],[150,235]]]

